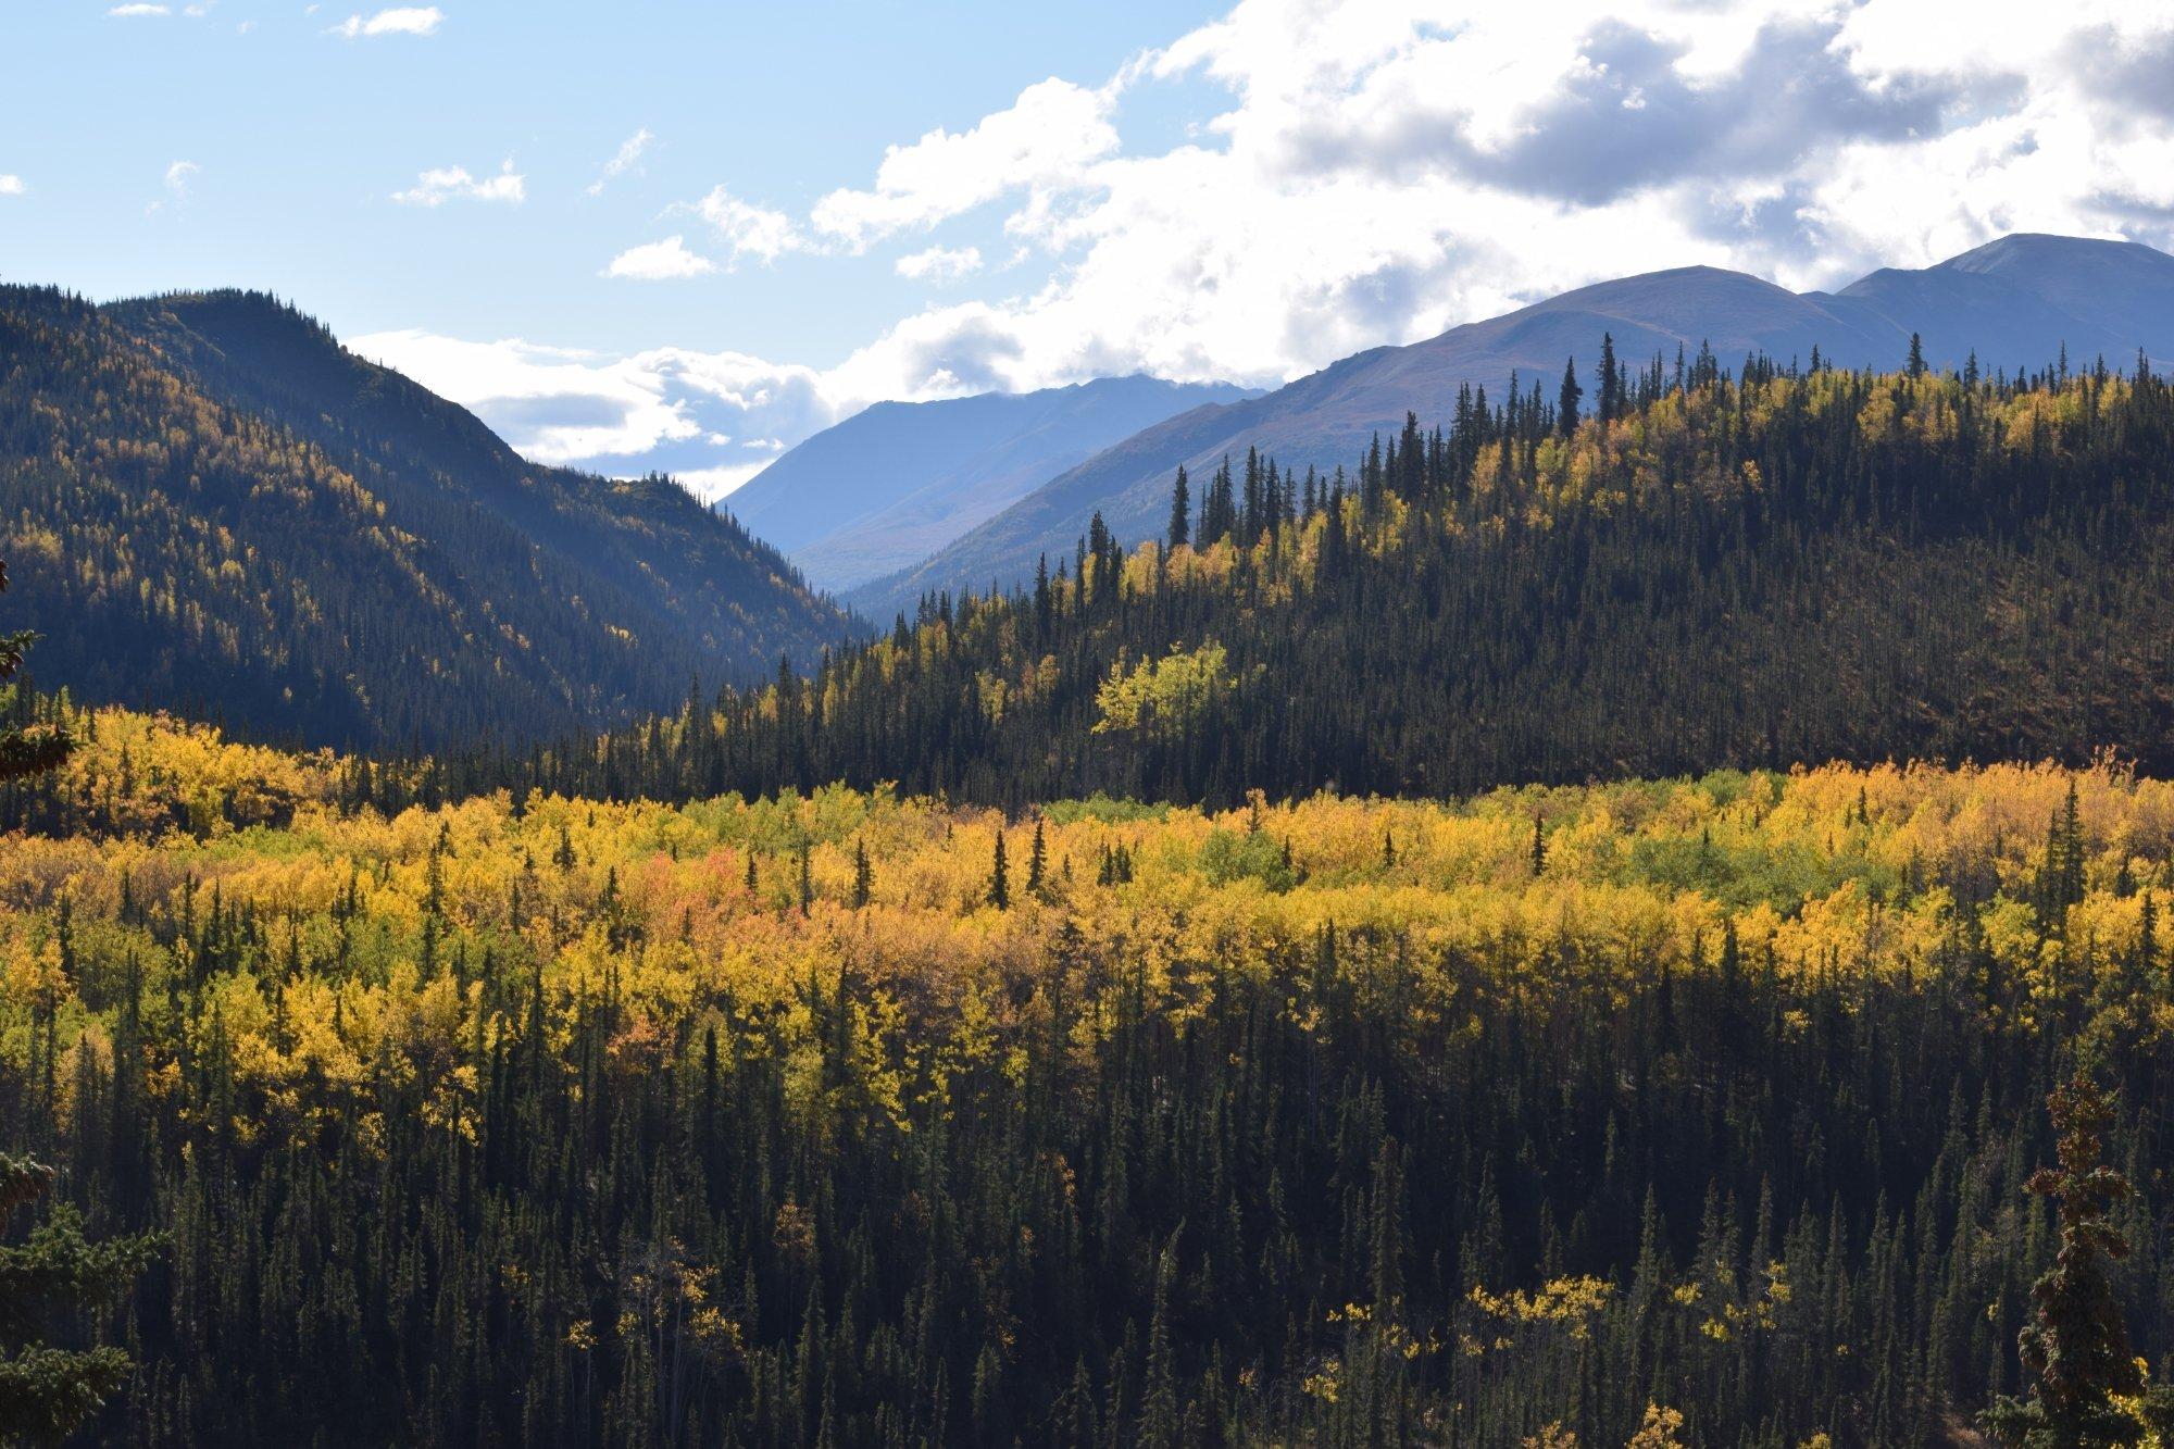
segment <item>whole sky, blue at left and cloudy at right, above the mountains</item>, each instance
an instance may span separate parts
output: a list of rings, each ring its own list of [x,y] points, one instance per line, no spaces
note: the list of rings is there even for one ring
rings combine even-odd
[[[0,281],[276,292],[722,496],[880,398],[1274,385],[1567,287],[2174,250],[2174,4],[17,0]]]

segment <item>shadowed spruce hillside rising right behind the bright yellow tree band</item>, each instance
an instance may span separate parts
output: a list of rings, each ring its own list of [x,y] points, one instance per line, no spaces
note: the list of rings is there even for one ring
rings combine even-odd
[[[848,781],[1011,807],[1852,759],[2174,770],[2174,387],[1607,370],[1461,396],[1350,472],[1233,459],[813,679],[433,788]],[[1580,389],[1583,394],[1583,389]]]

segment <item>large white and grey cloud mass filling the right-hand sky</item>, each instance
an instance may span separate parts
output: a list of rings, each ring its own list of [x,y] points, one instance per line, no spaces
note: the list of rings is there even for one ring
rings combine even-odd
[[[2170,63],[2174,11],[2124,0],[1241,0],[1117,74],[891,146],[804,213],[724,187],[687,207],[720,268],[978,226],[894,261],[965,296],[822,370],[594,368],[641,379],[657,457],[724,479],[759,466],[744,439],[876,398],[1135,370],[1272,385],[1628,272],[1802,289],[2007,231],[2167,248]],[[983,281],[994,228],[1041,281]],[[580,435],[548,446],[578,457]]]

